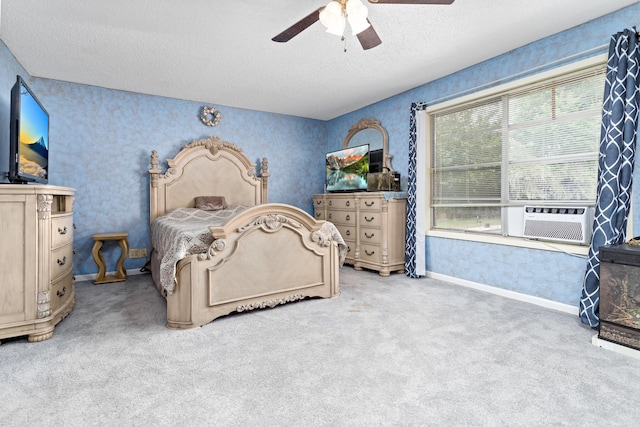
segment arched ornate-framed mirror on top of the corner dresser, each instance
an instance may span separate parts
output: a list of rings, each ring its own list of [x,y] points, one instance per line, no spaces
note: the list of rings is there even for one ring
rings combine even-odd
[[[389,154],[389,135],[375,119],[360,119],[351,126],[342,148],[369,144],[369,172],[392,172]]]

